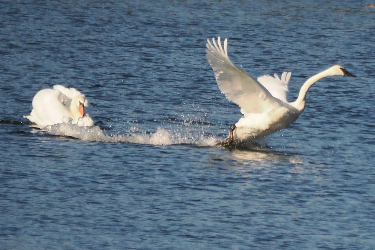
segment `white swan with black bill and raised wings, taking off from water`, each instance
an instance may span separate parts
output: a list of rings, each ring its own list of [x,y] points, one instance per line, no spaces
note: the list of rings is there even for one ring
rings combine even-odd
[[[282,73],[281,79],[275,73],[275,77],[264,75],[256,81],[229,59],[227,39],[224,49],[220,37],[217,43],[214,38],[212,42],[207,39],[206,56],[217,85],[228,100],[240,106],[244,115],[231,126],[228,139],[216,144],[219,146],[251,142],[289,126],[305,109],[306,93],[311,85],[327,76],[354,76],[342,66],[332,66],[311,76],[302,85],[297,100],[288,102],[286,93],[291,72]]]

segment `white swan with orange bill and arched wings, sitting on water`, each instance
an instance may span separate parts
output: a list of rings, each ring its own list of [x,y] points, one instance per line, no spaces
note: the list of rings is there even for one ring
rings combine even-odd
[[[85,112],[85,107],[89,107],[89,101],[80,91],[54,85],[53,89],[46,88],[36,93],[33,110],[24,118],[38,126],[68,123],[69,120],[80,127],[93,126],[94,122]]]

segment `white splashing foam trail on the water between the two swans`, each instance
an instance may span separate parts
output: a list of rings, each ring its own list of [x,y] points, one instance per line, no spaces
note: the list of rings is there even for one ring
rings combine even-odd
[[[198,146],[213,146],[218,141],[214,137],[197,135],[189,131],[168,131],[158,127],[155,132],[142,132],[133,128],[128,135],[108,135],[99,126],[79,127],[72,123],[60,123],[46,127],[51,135],[70,136],[84,141],[100,141],[113,143],[135,143],[149,145],[194,144]]]

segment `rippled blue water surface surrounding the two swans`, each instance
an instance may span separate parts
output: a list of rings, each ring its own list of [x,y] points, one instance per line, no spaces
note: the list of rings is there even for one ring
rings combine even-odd
[[[0,249],[375,249],[375,9],[353,1],[2,1]],[[290,100],[262,147],[223,149],[239,108],[205,40]],[[55,84],[92,129],[23,115]],[[266,146],[267,145],[267,146]]]

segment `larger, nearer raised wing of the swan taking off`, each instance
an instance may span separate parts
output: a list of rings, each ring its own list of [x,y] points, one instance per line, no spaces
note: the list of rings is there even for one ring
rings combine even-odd
[[[217,43],[214,38],[212,42],[207,39],[206,56],[214,71],[217,85],[228,100],[240,106],[243,114],[263,113],[283,106],[279,99],[273,97],[245,70],[232,63],[226,50],[227,39],[224,40],[224,49],[220,37],[217,38]]]

